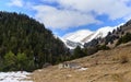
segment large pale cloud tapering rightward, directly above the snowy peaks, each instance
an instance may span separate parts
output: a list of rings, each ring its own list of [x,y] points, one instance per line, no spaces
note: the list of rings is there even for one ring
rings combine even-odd
[[[60,10],[49,5],[36,5],[34,10],[37,10],[36,19],[51,28],[68,28],[99,23],[90,13],[85,14],[78,11]]]

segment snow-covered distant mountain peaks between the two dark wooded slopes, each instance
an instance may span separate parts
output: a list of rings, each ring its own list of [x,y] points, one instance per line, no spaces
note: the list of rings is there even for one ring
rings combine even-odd
[[[115,27],[106,26],[95,32],[90,30],[81,30],[74,33],[69,33],[64,35],[61,39],[70,49],[74,49],[76,46],[83,47],[85,43],[88,43],[95,38],[106,37],[108,32],[112,32],[116,28],[117,28],[116,26]]]

